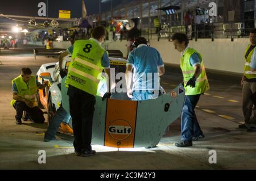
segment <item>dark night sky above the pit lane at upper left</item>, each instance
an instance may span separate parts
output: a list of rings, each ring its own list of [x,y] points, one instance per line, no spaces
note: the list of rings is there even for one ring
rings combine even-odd
[[[9,15],[38,16],[38,3],[47,0],[1,0],[0,13]],[[128,0],[113,0],[113,7]],[[99,12],[99,0],[84,0],[88,15]],[[48,15],[59,17],[59,10],[71,10],[71,18],[81,17],[82,0],[48,0]],[[110,10],[110,1],[101,3],[101,10]]]

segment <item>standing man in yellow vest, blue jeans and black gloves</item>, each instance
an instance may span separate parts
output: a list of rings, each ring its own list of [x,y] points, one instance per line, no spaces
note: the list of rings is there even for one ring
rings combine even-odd
[[[192,141],[204,138],[195,114],[196,104],[200,96],[209,90],[207,74],[201,54],[188,46],[188,36],[175,33],[172,36],[175,49],[181,52],[180,67],[183,72],[185,86],[185,102],[181,113],[181,141],[177,147],[192,146]]]

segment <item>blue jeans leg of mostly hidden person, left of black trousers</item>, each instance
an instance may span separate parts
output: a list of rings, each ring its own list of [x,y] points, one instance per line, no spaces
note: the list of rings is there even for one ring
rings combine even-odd
[[[49,122],[49,127],[47,128],[46,133],[44,133],[44,138],[48,140],[52,140],[55,138],[55,134],[57,133],[60,124],[65,119],[66,116],[69,116],[68,113],[64,110],[63,107],[60,107],[55,115],[53,116],[52,120]]]

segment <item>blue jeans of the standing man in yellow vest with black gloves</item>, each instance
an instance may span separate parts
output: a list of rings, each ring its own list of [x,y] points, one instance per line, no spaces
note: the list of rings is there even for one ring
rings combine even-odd
[[[196,118],[195,107],[201,95],[188,95],[181,112],[181,140],[192,141],[192,137],[203,135]]]

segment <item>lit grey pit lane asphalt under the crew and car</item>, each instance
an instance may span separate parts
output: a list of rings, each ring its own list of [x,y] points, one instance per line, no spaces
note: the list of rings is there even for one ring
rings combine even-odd
[[[24,54],[25,53],[25,54]],[[176,148],[180,140],[180,120],[154,149],[120,149],[93,145],[93,157],[76,157],[72,137],[58,134],[56,141],[43,142],[47,123],[15,125],[15,110],[10,106],[11,80],[28,66],[35,74],[40,65],[54,58],[38,57],[28,52],[0,54],[0,169],[256,169],[256,133],[238,129],[243,121],[240,75],[210,73],[211,90],[201,96],[196,113],[206,138],[193,142],[192,148]],[[162,78],[170,91],[182,76],[179,68],[167,66]],[[209,113],[212,112],[212,113]],[[225,118],[223,118],[225,117]],[[38,151],[46,151],[46,164],[38,163]],[[210,164],[209,150],[217,151],[217,164]],[[125,164],[124,164],[125,163]]]

